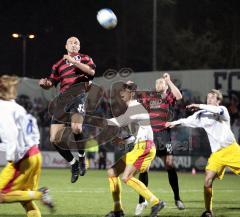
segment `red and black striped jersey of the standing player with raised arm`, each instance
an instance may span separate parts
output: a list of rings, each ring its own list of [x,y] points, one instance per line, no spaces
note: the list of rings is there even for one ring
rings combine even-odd
[[[173,107],[176,102],[172,92],[167,91],[164,97],[156,91],[145,92],[140,94],[139,102],[149,112],[153,132],[166,129],[166,122],[173,118]]]

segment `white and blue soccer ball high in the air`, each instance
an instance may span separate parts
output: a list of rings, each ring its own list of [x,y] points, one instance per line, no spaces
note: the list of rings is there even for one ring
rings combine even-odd
[[[113,29],[117,25],[117,17],[109,8],[98,11],[97,21],[105,29]]]

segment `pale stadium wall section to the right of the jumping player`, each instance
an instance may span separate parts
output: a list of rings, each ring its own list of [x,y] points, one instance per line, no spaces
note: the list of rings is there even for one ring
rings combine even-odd
[[[154,89],[155,80],[166,72],[134,73],[130,69],[125,69],[124,74],[123,71],[124,69],[119,72],[115,71],[115,75],[112,70],[106,71],[104,76],[96,78],[95,82],[105,88],[110,88],[113,82],[132,80],[136,82],[140,90],[149,90]],[[240,91],[240,69],[179,70],[168,71],[168,73],[181,90],[187,90],[193,95],[199,96],[201,100],[205,100],[207,91],[212,88],[221,89],[224,95],[232,90]]]

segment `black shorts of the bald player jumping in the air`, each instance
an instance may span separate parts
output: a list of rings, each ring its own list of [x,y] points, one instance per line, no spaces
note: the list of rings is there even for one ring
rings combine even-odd
[[[69,88],[59,94],[49,106],[52,115],[51,124],[69,124],[72,114],[85,115],[87,93],[82,88]]]

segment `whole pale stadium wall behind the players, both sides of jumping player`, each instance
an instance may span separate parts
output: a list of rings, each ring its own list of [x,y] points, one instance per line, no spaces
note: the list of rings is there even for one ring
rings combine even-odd
[[[103,76],[96,77],[94,83],[109,89],[113,82],[133,80],[138,84],[140,90],[150,90],[154,88],[155,80],[164,72],[134,73],[129,68],[119,71],[111,69],[106,71]],[[205,99],[206,92],[212,88],[221,89],[224,95],[232,90],[240,91],[240,69],[179,70],[169,71],[169,73],[178,87],[199,96],[201,100]],[[57,90],[55,88],[43,90],[38,86],[38,80],[22,78],[19,93],[50,100],[56,96]]]

